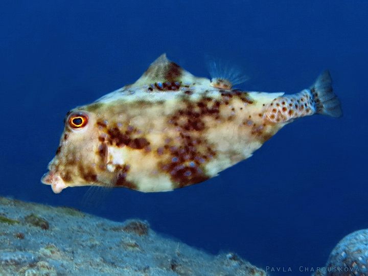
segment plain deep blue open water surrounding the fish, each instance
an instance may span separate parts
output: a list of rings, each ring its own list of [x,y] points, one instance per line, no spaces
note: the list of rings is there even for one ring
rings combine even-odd
[[[366,1],[2,1],[0,194],[147,219],[214,254],[309,275],[298,267],[324,265],[368,227],[367,11]],[[295,93],[328,68],[344,116],[297,120],[219,177],[174,192],[116,189],[88,209],[88,188],[41,185],[65,113],[134,82],[164,52],[206,77],[206,54],[237,60],[247,90]]]

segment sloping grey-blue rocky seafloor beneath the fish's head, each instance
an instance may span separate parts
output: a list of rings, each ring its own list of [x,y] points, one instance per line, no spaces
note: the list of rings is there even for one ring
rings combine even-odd
[[[213,256],[156,234],[66,207],[0,197],[0,276],[265,276],[229,252]]]

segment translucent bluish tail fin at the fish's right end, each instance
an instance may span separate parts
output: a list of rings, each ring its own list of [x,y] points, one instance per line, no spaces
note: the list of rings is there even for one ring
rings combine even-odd
[[[328,70],[319,75],[314,84],[309,88],[318,114],[328,115],[334,118],[342,116],[340,101],[332,91],[332,80]]]

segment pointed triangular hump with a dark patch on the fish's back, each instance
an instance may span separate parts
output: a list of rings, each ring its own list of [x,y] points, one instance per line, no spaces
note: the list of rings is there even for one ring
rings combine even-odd
[[[174,83],[186,82],[194,83],[196,78],[191,73],[185,71],[175,62],[170,61],[166,54],[160,55],[146,70],[146,72],[133,84],[129,86],[144,86],[154,83]]]

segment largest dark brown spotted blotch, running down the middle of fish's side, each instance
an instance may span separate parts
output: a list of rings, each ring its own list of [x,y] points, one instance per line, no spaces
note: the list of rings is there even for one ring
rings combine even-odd
[[[175,111],[169,118],[169,124],[178,132],[178,137],[166,139],[165,145],[157,149],[164,160],[159,169],[167,173],[178,188],[186,187],[209,179],[204,166],[215,158],[214,145],[203,139],[206,131],[205,117],[217,118],[220,113],[220,101],[203,97],[193,103],[183,99],[186,107]]]

